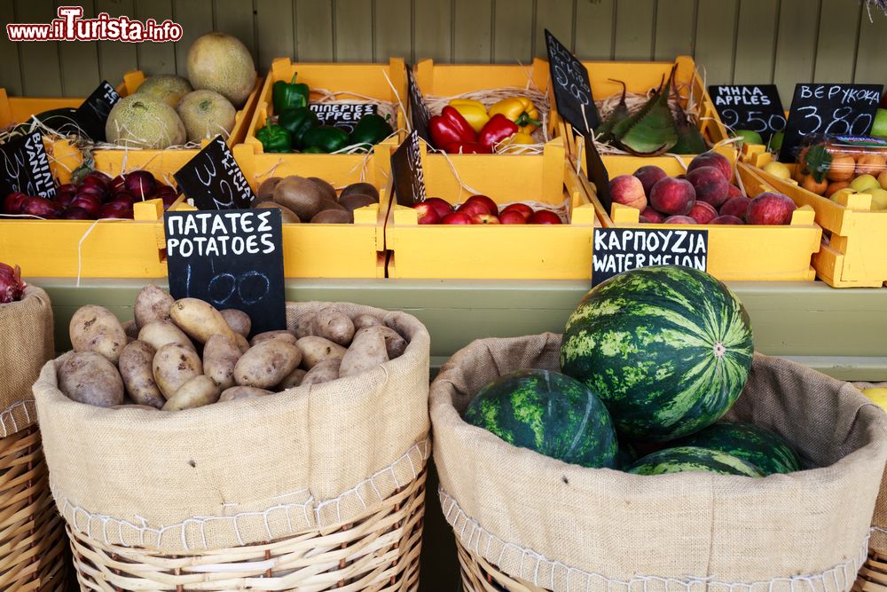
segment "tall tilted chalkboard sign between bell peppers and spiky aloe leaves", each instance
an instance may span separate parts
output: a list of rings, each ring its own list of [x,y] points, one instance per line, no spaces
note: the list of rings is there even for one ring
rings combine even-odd
[[[577,133],[598,127],[600,116],[598,108],[594,105],[592,84],[588,81],[588,69],[547,28],[546,48],[558,114],[572,125]]]

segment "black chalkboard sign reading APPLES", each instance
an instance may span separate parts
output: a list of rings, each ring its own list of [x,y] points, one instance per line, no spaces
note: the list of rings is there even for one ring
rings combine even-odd
[[[785,110],[775,84],[714,84],[709,95],[730,130],[757,131],[766,143],[785,129]]]

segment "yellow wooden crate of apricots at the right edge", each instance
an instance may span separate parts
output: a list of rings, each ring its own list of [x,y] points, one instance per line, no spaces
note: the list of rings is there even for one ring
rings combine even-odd
[[[763,146],[761,146],[763,148]],[[762,169],[773,156],[751,146],[743,159],[754,174],[785,193],[799,206],[816,212],[816,223],[828,232],[813,267],[833,288],[877,288],[887,284],[887,211],[873,210],[867,193],[854,193],[832,201],[807,191],[791,179],[775,177]],[[787,165],[794,176],[796,164]]]

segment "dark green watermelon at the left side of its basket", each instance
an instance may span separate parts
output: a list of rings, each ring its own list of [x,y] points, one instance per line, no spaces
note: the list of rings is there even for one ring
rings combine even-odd
[[[465,421],[563,462],[616,466],[616,430],[607,407],[585,384],[559,372],[500,376],[477,393]]]

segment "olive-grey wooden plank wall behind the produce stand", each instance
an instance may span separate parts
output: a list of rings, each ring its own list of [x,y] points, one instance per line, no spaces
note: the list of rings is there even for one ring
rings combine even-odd
[[[48,22],[69,0],[3,0],[3,22]],[[0,36],[0,86],[19,96],[82,96],[130,69],[185,73],[188,44],[218,29],[260,69],[279,56],[372,61],[389,56],[522,62],[544,56],[544,29],[585,59],[690,54],[710,83],[887,83],[887,18],[859,0],[84,0],[85,13],[172,19],[179,43],[11,43]]]

